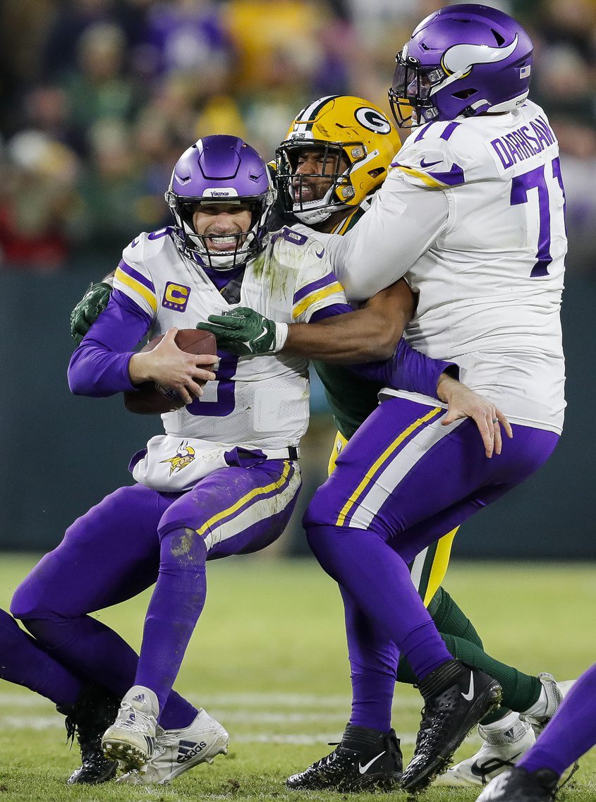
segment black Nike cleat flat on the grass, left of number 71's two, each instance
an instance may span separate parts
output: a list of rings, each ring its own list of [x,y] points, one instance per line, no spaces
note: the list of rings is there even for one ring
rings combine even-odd
[[[359,748],[355,736],[366,743]],[[349,743],[350,747],[346,744]],[[402,756],[395,731],[387,735],[364,727],[347,725],[342,742],[330,755],[317,760],[300,774],[286,780],[293,791],[359,792],[381,788],[397,788],[402,775]]]

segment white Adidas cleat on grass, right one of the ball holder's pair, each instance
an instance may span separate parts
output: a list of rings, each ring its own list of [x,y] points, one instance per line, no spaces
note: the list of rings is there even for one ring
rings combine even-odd
[[[164,785],[201,763],[213,763],[228,752],[229,735],[207,711],[199,708],[196,719],[182,730],[157,727],[153,757],[139,771],[128,772],[117,782],[126,785]]]

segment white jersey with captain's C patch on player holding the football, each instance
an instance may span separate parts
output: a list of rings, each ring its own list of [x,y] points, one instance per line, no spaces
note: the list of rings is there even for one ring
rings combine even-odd
[[[166,228],[142,233],[124,249],[114,288],[152,319],[149,337],[172,326],[194,328],[210,314],[249,306],[279,322],[308,322],[315,311],[345,303],[320,243],[290,229],[250,260],[240,299],[229,304],[205,271],[182,256]],[[228,446],[278,449],[298,445],[309,415],[308,361],[275,354],[221,354],[217,381],[187,407],[162,415],[166,435]]]

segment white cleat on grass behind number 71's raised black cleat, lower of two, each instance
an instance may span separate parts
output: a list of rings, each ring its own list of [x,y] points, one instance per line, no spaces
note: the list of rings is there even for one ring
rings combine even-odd
[[[536,740],[529,723],[513,712],[487,727],[479,724],[478,735],[485,743],[476,755],[449,768],[436,778],[436,785],[486,785],[515,765]]]

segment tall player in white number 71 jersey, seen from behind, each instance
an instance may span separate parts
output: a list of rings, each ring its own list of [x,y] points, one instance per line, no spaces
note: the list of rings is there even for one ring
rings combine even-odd
[[[405,277],[419,298],[408,341],[456,359],[464,381],[514,424],[499,458],[486,460],[469,421],[443,427],[430,399],[387,391],[306,513],[310,546],[339,582],[347,621],[367,622],[379,662],[392,666],[399,650],[418,678],[424,714],[402,780],[411,792],[446,768],[501,689],[452,659],[407,562],[537,470],[562,431],[565,196],[556,137],[527,99],[532,50],[513,18],[487,6],[448,6],[424,19],[397,56],[390,90],[396,119],[417,130],[370,212],[326,239],[350,300]],[[215,322],[228,342],[250,335]],[[290,326],[282,353],[341,360],[344,325]],[[363,648],[362,631],[348,624],[351,654]],[[390,727],[393,676],[387,670],[383,683],[381,674],[377,667],[353,688],[360,743],[340,744],[290,778],[291,788],[356,776],[359,755]]]

